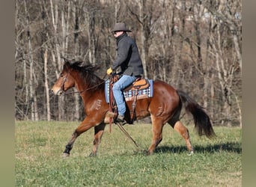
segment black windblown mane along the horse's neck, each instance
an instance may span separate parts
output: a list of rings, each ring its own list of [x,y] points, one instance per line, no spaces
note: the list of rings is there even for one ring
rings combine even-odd
[[[77,72],[79,72],[80,76],[84,78],[84,81],[89,88],[100,84],[104,85],[102,84],[104,80],[100,79],[100,77],[95,74],[96,71],[100,69],[100,66],[94,66],[90,63],[82,65],[82,63],[83,61],[75,61],[72,64],[69,64],[72,70],[76,70]]]

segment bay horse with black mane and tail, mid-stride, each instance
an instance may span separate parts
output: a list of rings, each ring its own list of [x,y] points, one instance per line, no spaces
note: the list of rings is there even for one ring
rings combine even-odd
[[[73,148],[76,138],[92,127],[94,127],[94,141],[90,156],[97,156],[105,126],[109,123],[109,117],[113,117],[109,114],[109,104],[106,102],[105,81],[95,74],[97,67],[91,64],[84,66],[81,64],[82,62],[70,63],[65,60],[61,75],[52,87],[52,92],[58,96],[75,87],[84,102],[85,119],[75,129],[70,141],[68,141],[63,153],[64,157],[70,156],[70,150]],[[153,82],[153,96],[138,99],[135,108],[135,120],[147,116],[151,117],[153,138],[147,150],[147,155],[151,155],[162,141],[162,128],[165,123],[170,124],[172,128],[180,133],[186,141],[187,150],[189,153],[193,153],[189,130],[180,122],[180,111],[183,105],[186,111],[192,114],[198,135],[206,135],[207,138],[215,136],[210,118],[201,105],[198,105],[194,99],[183,91],[176,90],[171,85],[156,80]],[[131,108],[132,101],[127,101],[127,112],[125,114],[127,122],[129,122]]]

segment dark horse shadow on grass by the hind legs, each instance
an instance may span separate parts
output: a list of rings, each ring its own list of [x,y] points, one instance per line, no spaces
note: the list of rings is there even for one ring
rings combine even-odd
[[[227,142],[225,144],[213,144],[204,146],[195,146],[195,153],[215,153],[219,151],[226,151],[232,153],[242,153],[241,144],[238,142]],[[168,147],[168,146],[159,146],[156,147],[155,153],[187,153],[186,146],[177,146],[177,147]]]

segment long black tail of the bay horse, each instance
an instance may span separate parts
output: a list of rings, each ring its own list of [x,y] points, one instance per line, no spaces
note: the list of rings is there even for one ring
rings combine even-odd
[[[186,111],[189,111],[193,115],[195,129],[197,130],[198,135],[206,135],[207,138],[216,136],[215,132],[213,131],[213,126],[210,123],[210,118],[203,110],[203,107],[198,105],[194,99],[183,91],[177,90],[177,93],[179,94],[181,102],[185,106]]]

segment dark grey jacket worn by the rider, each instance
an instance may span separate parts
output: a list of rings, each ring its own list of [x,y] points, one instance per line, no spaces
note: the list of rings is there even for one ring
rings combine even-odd
[[[112,70],[116,70],[120,66],[124,75],[141,76],[143,66],[135,41],[126,33],[121,34],[116,40],[118,55],[112,65]]]

